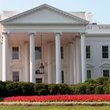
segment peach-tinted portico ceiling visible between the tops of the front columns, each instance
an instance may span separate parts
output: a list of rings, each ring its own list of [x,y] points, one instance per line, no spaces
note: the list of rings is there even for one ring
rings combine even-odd
[[[62,33],[61,35],[61,42],[71,42],[77,36],[80,36],[79,33]],[[36,33],[35,39],[36,41],[55,42],[55,34],[54,33]],[[29,41],[29,34],[28,33],[10,33],[9,40],[13,41]]]

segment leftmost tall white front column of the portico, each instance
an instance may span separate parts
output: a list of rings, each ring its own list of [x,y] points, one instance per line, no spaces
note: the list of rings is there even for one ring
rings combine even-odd
[[[3,34],[2,45],[2,81],[8,80],[8,33]]]

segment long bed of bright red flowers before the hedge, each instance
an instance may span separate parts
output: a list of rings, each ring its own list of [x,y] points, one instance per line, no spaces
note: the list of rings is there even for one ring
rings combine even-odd
[[[4,98],[6,101],[32,101],[32,102],[56,102],[56,101],[110,101],[110,95],[47,95],[47,96],[13,96]]]

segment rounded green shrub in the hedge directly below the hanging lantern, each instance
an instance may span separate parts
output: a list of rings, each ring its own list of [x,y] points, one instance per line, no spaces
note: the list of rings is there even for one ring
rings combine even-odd
[[[43,94],[45,92],[45,94]],[[48,84],[45,83],[36,83],[34,84],[34,93],[35,95],[48,95]]]

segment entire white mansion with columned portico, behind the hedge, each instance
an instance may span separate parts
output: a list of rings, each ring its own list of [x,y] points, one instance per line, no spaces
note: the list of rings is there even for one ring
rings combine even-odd
[[[67,83],[110,74],[110,25],[43,4],[0,14],[0,80]]]

